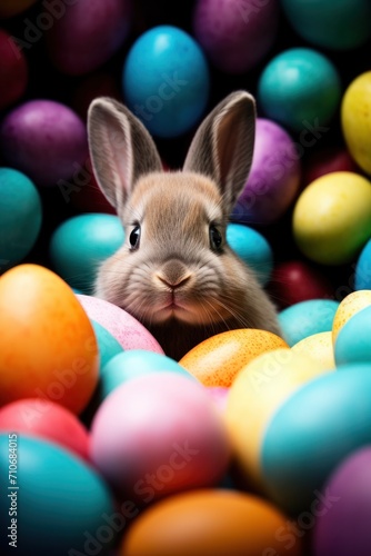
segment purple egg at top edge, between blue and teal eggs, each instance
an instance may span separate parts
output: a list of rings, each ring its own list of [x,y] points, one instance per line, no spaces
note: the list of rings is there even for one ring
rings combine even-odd
[[[193,13],[194,36],[213,66],[225,73],[243,73],[270,51],[278,32],[279,2],[199,0]]]

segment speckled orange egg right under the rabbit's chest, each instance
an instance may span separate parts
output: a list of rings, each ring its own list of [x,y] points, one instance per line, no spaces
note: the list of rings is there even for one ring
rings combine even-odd
[[[202,341],[179,361],[205,386],[232,384],[238,373],[254,357],[288,344],[275,334],[241,328],[218,334]]]

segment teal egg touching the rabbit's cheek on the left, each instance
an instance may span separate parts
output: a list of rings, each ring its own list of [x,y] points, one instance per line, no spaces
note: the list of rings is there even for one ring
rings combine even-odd
[[[50,258],[56,272],[72,288],[91,295],[99,265],[123,244],[118,216],[79,215],[64,220],[52,234]]]

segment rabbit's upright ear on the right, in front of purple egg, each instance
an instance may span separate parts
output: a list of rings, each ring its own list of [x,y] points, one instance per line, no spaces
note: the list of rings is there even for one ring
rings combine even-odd
[[[255,102],[247,91],[222,100],[203,120],[183,170],[213,179],[231,211],[248,179],[255,137]]]

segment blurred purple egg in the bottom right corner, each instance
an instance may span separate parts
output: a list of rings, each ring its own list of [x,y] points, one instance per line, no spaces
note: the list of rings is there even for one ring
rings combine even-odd
[[[322,489],[313,556],[371,554],[371,446],[345,458]]]

